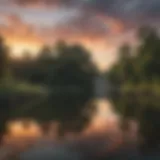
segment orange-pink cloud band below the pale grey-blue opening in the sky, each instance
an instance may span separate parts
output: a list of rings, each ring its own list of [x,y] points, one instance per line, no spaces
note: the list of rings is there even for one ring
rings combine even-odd
[[[16,14],[4,14],[5,23],[0,25],[0,34],[6,39],[19,39],[29,43],[53,44],[55,40],[106,42],[114,34],[125,31],[125,24],[109,16],[76,12],[64,21],[48,27],[26,23]],[[33,15],[34,17],[34,15]]]

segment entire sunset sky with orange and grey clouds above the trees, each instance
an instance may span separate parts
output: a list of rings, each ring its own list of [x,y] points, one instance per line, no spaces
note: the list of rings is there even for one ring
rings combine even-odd
[[[109,69],[123,43],[136,44],[142,25],[159,27],[160,0],[0,0],[0,35],[12,54],[33,54],[65,40],[86,47]]]

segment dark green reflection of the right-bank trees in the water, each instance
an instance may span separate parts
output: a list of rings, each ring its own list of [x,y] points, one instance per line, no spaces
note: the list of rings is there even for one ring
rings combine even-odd
[[[157,96],[148,93],[124,94],[112,97],[115,108],[123,115],[125,128],[129,128],[131,119],[137,121],[139,128],[139,142],[145,152],[157,150],[160,147],[160,111]],[[133,130],[132,133],[135,133]],[[130,133],[131,135],[131,133]],[[159,149],[158,149],[159,150]]]

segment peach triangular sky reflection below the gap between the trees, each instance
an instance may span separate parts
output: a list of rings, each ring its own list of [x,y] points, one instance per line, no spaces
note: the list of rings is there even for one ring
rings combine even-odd
[[[120,117],[108,99],[97,99],[93,103],[94,111],[85,130],[87,133],[106,132],[119,127]]]

